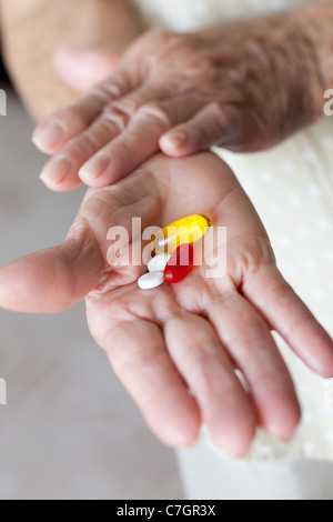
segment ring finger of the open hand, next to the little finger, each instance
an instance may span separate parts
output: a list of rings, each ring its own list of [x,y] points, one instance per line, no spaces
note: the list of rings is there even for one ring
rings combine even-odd
[[[249,383],[262,426],[278,439],[291,439],[300,422],[300,406],[268,324],[235,291],[213,301],[208,313]]]

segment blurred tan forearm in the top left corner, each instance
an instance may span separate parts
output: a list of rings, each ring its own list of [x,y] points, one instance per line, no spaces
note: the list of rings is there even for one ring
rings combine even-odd
[[[6,63],[21,98],[38,120],[78,97],[53,70],[52,58],[59,47],[110,47],[122,51],[143,30],[123,0],[0,2]]]

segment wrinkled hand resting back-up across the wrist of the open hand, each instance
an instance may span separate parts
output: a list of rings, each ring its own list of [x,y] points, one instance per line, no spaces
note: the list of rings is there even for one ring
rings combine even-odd
[[[103,187],[159,148],[173,157],[213,144],[258,151],[315,121],[327,82],[316,20],[332,2],[313,12],[147,33],[107,81],[37,129],[38,147],[56,153],[43,181],[59,191],[81,180]]]

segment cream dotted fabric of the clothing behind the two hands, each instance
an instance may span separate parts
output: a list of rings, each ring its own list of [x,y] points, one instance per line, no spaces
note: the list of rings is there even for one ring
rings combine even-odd
[[[296,9],[311,0],[131,0],[147,23],[192,31],[219,21]],[[256,154],[216,149],[260,213],[286,280],[333,335],[333,119],[323,118],[278,148]],[[314,375],[276,335],[303,409],[290,443],[259,432],[249,460],[333,460],[333,380]],[[315,347],[313,347],[315,350]],[[202,444],[208,448],[205,431]],[[218,451],[218,450],[216,450]]]

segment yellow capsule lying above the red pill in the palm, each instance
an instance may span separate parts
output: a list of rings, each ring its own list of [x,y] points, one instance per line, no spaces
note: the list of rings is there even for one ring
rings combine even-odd
[[[178,247],[194,243],[203,238],[212,221],[208,215],[194,214],[164,227],[151,242],[157,254],[173,253]]]

